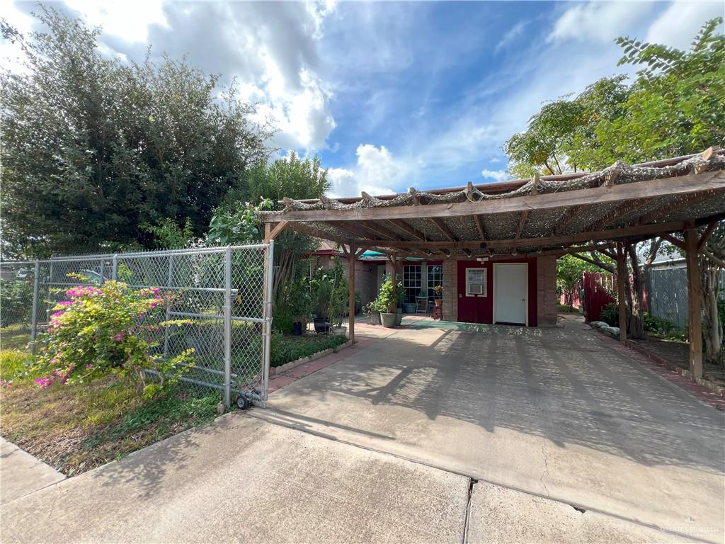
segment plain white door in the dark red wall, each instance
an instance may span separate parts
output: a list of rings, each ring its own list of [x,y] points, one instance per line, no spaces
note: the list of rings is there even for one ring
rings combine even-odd
[[[494,323],[526,325],[527,263],[494,263]]]

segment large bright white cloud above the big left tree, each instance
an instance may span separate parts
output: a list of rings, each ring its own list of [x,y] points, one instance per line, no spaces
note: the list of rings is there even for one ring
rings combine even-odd
[[[7,10],[22,33],[39,29],[27,5]],[[64,0],[53,6],[101,26],[99,50],[123,60],[186,57],[206,73],[236,78],[239,98],[257,104],[256,120],[277,131],[273,147],[309,152],[326,146],[335,128],[329,86],[320,75],[318,45],[332,0],[313,2],[162,2]],[[17,13],[16,13],[17,12]],[[23,24],[20,24],[23,23]],[[0,51],[9,51],[7,44]],[[17,47],[6,56],[14,56]],[[4,63],[5,64],[5,63]]]

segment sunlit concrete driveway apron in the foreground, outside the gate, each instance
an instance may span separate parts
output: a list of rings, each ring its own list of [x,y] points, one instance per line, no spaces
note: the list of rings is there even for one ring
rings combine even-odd
[[[3,543],[687,539],[231,413],[1,508]]]

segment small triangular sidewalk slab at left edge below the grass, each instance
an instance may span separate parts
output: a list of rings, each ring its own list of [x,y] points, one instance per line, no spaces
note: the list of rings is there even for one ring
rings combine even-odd
[[[60,482],[65,476],[0,437],[0,504]]]

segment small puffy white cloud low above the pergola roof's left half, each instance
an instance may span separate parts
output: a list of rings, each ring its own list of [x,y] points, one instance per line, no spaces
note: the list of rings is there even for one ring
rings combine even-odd
[[[355,168],[329,168],[331,197],[356,197],[362,191],[368,194],[391,194],[391,189],[408,173],[405,163],[395,160],[385,146],[371,144],[357,146]]]

